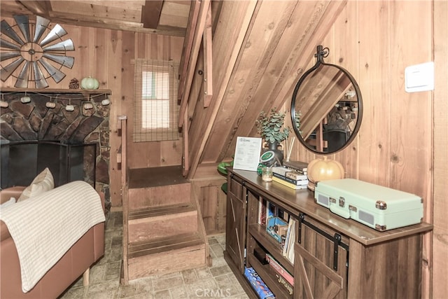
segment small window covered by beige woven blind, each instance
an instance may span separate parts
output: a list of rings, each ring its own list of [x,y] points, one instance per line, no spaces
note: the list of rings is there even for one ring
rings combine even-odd
[[[179,139],[179,63],[135,61],[134,142]]]

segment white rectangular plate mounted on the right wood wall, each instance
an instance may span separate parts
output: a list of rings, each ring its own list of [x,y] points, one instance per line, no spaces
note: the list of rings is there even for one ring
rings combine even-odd
[[[434,90],[434,62],[415,64],[405,69],[406,92]]]

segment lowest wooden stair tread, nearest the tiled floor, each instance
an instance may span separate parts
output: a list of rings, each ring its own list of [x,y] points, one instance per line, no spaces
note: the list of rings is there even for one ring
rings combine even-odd
[[[194,246],[205,246],[204,240],[201,239],[197,232],[171,237],[160,237],[144,242],[134,242],[129,244],[128,256],[129,258],[137,258],[139,256],[163,253]]]

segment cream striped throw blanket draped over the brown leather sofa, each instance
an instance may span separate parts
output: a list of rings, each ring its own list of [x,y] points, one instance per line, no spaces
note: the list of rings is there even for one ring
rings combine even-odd
[[[27,293],[93,225],[105,221],[97,191],[73,181],[1,209],[20,259]]]

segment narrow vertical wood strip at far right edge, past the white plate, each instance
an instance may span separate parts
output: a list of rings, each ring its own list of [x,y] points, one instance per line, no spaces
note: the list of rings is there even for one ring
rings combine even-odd
[[[448,296],[448,1],[434,1],[433,298]]]

